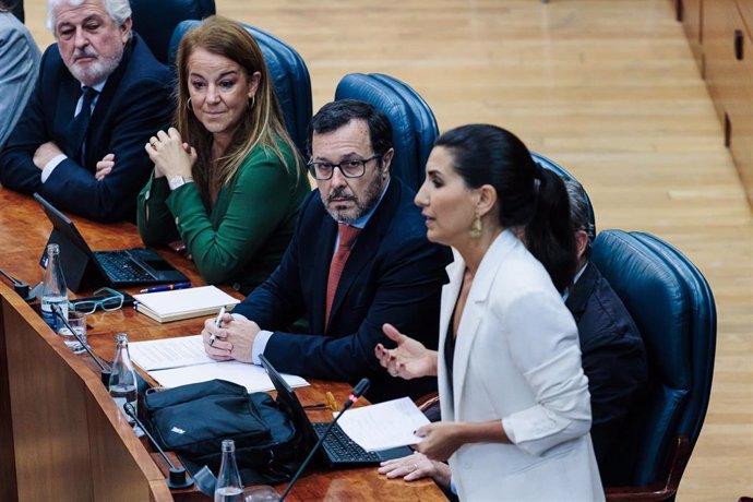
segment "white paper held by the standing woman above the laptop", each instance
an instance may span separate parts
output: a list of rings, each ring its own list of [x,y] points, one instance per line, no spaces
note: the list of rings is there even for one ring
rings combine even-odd
[[[354,408],[337,425],[367,452],[379,452],[421,442],[414,431],[429,423],[409,397]]]

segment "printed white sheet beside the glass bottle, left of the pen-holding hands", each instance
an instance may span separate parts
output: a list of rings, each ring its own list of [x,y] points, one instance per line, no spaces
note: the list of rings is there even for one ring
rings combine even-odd
[[[216,362],[204,351],[201,335],[132,342],[128,351],[131,360],[146,371]]]

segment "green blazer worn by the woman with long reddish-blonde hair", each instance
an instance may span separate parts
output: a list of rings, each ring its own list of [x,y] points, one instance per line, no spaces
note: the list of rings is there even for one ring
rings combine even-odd
[[[295,166],[290,150],[278,147]],[[304,172],[286,169],[274,152],[256,147],[219,190],[212,210],[195,183],[170,192],[165,177],[152,175],[139,194],[139,232],[146,246],[181,239],[204,280],[230,283],[248,295],[282,260],[310,192]]]

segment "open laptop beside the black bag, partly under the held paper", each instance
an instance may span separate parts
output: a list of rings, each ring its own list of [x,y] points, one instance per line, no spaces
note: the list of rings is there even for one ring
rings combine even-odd
[[[311,422],[290,385],[263,355],[260,355],[259,359],[261,359],[262,368],[264,368],[277,391],[277,403],[288,408],[288,413],[292,417],[296,427],[303,430],[307,447],[313,447],[315,442],[324,434],[330,422]],[[324,439],[320,450],[324,461],[333,468],[374,466],[379,465],[380,462],[402,458],[413,453],[414,451],[408,446],[399,446],[381,452],[367,452],[354,442],[337,423],[335,423],[330,434]]]

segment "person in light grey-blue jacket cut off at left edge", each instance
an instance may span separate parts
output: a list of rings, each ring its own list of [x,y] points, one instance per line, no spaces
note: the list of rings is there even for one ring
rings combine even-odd
[[[13,15],[14,5],[0,0],[0,150],[34,89],[41,57],[32,34]]]

